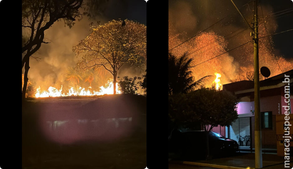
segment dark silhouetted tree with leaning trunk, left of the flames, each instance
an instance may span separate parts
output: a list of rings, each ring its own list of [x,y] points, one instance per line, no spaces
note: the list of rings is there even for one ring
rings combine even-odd
[[[28,83],[27,73],[32,54],[40,49],[44,41],[44,32],[55,21],[63,19],[71,27],[81,14],[78,9],[83,0],[23,0],[22,1],[22,68],[25,67],[22,98],[25,98]]]

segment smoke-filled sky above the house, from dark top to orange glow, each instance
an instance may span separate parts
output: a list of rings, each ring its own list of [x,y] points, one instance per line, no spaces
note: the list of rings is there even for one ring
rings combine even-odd
[[[246,20],[251,23],[253,21],[253,2],[241,0],[235,3]],[[278,31],[278,17],[282,15],[275,16],[269,14],[288,8],[289,7],[276,7],[274,4],[262,1],[261,7],[258,7],[259,37],[280,32]],[[264,16],[265,23],[262,16]],[[222,18],[224,18],[222,21],[213,25]],[[212,48],[213,45],[210,45],[199,50],[203,52],[193,53],[193,51],[200,49],[198,46],[209,45],[213,42],[210,37],[207,40],[203,39],[198,41],[195,40],[195,37],[191,39],[190,42],[171,50],[176,56],[180,56],[184,52],[189,51],[189,53],[192,53],[190,57],[195,59],[194,64],[198,64],[242,45],[247,41],[252,41],[252,38],[250,37],[250,28],[237,12],[231,1],[169,0],[169,49],[172,49],[211,25],[213,26],[205,32],[210,34],[215,33],[215,38],[223,37],[223,42],[217,42],[215,43],[216,45],[213,44],[216,46],[215,48]],[[290,27],[288,29],[290,29]],[[284,30],[287,30],[287,27],[283,27],[282,31]],[[204,35],[201,34],[197,37],[200,36]],[[284,56],[286,53],[280,52],[280,49],[278,49],[280,42],[287,44],[289,43],[289,38],[283,39],[282,41],[279,41],[278,38],[275,37],[262,38],[260,40],[260,48],[262,48],[259,51],[260,67],[269,67],[271,69],[271,76],[293,69],[293,62],[292,59],[290,59],[293,56],[291,54]],[[219,50],[221,47],[224,47],[224,50]],[[278,60],[279,65],[282,67],[282,71],[276,60]],[[244,80],[243,77],[239,76],[243,76],[246,73],[243,72],[243,70],[249,72],[251,69],[253,71],[253,45],[248,43],[214,60],[197,66],[194,68],[194,76],[195,79],[199,79],[206,75],[214,75],[214,72],[221,73],[221,80],[223,84],[225,84]],[[214,77],[208,85],[211,85],[213,80]]]

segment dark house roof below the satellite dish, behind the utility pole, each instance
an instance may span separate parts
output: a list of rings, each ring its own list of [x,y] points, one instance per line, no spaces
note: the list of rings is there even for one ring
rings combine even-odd
[[[271,87],[271,88],[277,88],[280,87],[279,84],[281,84],[284,81],[285,75],[289,75],[290,79],[293,78],[293,69],[284,73],[281,73],[279,75],[267,78],[265,80],[260,81],[260,87],[261,88],[266,88],[266,87]],[[274,87],[275,86],[275,87]],[[284,86],[284,83],[281,84],[281,86]],[[233,82],[233,83],[228,83],[223,85],[223,90],[227,90],[230,92],[237,92],[237,91],[245,91],[249,89],[254,88],[254,81],[249,81],[249,80],[243,80],[239,82]]]

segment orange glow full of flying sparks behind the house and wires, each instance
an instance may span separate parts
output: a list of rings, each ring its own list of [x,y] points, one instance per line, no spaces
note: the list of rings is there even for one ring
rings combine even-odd
[[[276,33],[277,22],[272,20],[270,22],[270,28],[266,28],[263,23],[259,24],[259,37]],[[177,57],[182,56],[188,51],[188,56],[194,59],[193,65],[197,65],[192,68],[195,79],[213,75],[217,72],[222,74],[220,81],[222,84],[242,80],[253,81],[254,63],[251,56],[253,56],[254,51],[252,46],[246,44],[237,48],[236,51],[238,52],[227,53],[227,49],[237,46],[235,43],[240,45],[249,40],[247,36],[249,34],[248,30],[230,30],[231,27],[229,27],[229,31],[233,32],[235,30],[231,35],[221,34],[221,31],[217,31],[218,34],[209,31],[189,39],[192,31],[187,29],[186,31],[189,32],[187,34],[183,30],[178,29],[178,23],[174,18],[169,21],[169,50]],[[194,29],[194,31],[198,30]],[[271,36],[262,38],[259,41],[259,67],[266,66],[269,68],[271,71],[270,77],[293,69],[293,59],[285,59],[280,55],[276,55],[274,51],[274,43]],[[218,55],[220,56],[215,57]],[[262,75],[260,75],[260,80],[264,80]],[[214,83],[216,82],[208,82],[205,87],[210,87]]]

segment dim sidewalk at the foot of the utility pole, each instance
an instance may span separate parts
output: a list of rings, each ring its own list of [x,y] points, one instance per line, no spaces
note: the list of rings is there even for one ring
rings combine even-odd
[[[276,154],[262,154],[263,168],[266,169],[279,169],[284,168],[284,157],[277,156]],[[213,167],[222,169],[241,169],[255,167],[254,153],[237,153],[233,157],[216,158],[212,160],[200,161],[183,161],[184,164],[191,164],[203,167]],[[290,166],[292,167],[293,161]],[[290,167],[290,168],[291,168]]]

